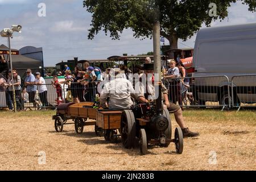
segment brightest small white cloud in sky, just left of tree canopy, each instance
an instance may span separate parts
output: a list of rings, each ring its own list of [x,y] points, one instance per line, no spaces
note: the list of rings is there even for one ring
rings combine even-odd
[[[74,26],[72,20],[55,22],[54,26],[49,28],[52,32],[71,32],[71,31],[86,31],[86,27]]]

